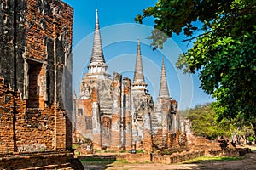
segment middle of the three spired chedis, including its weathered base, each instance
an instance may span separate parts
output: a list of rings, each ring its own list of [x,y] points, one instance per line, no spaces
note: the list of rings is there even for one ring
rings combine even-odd
[[[132,143],[137,149],[151,151],[151,118],[154,110],[152,96],[148,94],[144,80],[141,45],[137,43],[137,57],[131,84]]]

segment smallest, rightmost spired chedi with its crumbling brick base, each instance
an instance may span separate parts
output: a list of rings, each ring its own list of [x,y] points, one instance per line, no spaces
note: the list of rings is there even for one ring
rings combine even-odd
[[[178,146],[177,101],[169,95],[164,59],[162,60],[159,96],[152,114],[152,131],[155,149]]]

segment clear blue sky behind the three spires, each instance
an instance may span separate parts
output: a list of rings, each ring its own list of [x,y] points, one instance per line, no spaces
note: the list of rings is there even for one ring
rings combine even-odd
[[[73,19],[73,88],[78,92],[79,82],[90,60],[95,10],[98,8],[102,33],[103,53],[108,64],[108,73],[122,73],[123,77],[133,79],[137,52],[137,38],[141,40],[144,77],[149,93],[154,101],[159,92],[161,59],[165,59],[166,76],[172,99],[179,102],[179,109],[194,107],[212,101],[200,88],[198,74],[183,75],[175,68],[177,57],[191,47],[191,43],[182,42],[183,36],[170,38],[163,50],[152,50],[151,40],[147,37],[153,29],[154,19],[136,24],[134,18],[142,14],[143,8],[154,6],[151,0],[63,0],[74,8]]]

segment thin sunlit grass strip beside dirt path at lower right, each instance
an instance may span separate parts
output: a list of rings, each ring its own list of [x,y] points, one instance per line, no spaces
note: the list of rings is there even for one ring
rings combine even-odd
[[[189,161],[183,161],[181,164],[189,164],[189,163],[201,163],[203,161],[236,161],[236,160],[242,160],[244,157],[227,157],[227,156],[203,156],[198,157],[193,160]]]

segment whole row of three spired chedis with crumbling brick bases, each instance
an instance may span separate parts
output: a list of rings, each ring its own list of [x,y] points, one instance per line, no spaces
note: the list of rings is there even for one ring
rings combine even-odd
[[[117,72],[113,79],[105,62],[96,10],[94,42],[88,72],[79,94],[73,94],[73,142],[87,150],[144,150],[151,152],[184,144],[179,135],[177,101],[169,95],[164,59],[156,105],[143,75],[140,42],[133,82]]]

